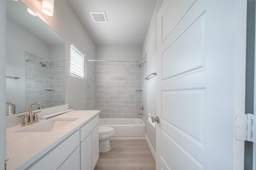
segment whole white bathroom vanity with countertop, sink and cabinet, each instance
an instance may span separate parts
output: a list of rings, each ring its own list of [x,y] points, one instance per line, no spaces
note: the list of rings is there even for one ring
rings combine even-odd
[[[93,170],[99,157],[99,112],[73,110],[7,128],[7,170]]]

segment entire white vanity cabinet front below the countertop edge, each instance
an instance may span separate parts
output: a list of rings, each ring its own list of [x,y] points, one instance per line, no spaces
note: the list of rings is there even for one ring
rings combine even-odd
[[[27,170],[93,170],[99,158],[98,129],[96,115]]]

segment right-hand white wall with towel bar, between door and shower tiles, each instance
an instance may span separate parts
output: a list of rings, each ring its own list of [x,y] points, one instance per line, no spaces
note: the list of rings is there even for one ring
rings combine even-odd
[[[147,74],[156,72],[157,13],[161,5],[162,1],[158,1],[142,46],[142,54],[147,53]],[[156,152],[156,128],[148,120],[148,117],[156,117],[156,76],[146,82],[146,103],[146,136],[152,146],[151,152],[154,156]]]

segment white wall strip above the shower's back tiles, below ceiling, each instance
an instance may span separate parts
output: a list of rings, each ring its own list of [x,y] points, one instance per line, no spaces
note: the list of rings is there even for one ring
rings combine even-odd
[[[141,46],[104,46],[96,47],[97,60],[114,61],[140,61],[142,56]]]

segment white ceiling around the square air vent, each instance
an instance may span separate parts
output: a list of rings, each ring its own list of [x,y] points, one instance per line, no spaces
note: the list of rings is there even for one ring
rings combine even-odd
[[[96,45],[142,45],[156,0],[69,0]],[[108,22],[95,23],[91,11],[106,12]]]

